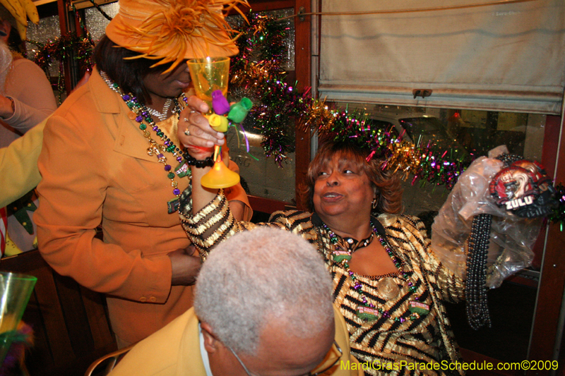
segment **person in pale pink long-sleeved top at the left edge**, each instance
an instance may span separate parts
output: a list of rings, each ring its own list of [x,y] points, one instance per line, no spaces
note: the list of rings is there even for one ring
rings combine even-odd
[[[0,147],[7,147],[57,109],[57,101],[47,76],[39,66],[21,55],[22,41],[13,27],[15,23],[16,20],[6,8],[0,6],[0,48],[3,60],[0,75],[4,78],[0,87]],[[5,178],[11,177],[14,176]],[[32,192],[33,188],[35,185],[22,193],[22,200],[7,203],[7,230],[11,239],[7,255],[35,248],[37,229],[33,222],[33,211],[38,202],[37,196]]]

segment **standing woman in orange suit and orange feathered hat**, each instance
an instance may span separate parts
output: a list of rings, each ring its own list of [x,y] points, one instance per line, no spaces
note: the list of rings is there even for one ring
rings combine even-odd
[[[44,128],[40,253],[60,274],[107,294],[120,348],[193,302],[201,262],[177,214],[191,172],[176,137],[191,84],[186,60],[237,53],[222,14],[237,1],[198,4],[120,0],[88,83]],[[227,200],[239,219],[250,218],[241,186],[227,191]]]

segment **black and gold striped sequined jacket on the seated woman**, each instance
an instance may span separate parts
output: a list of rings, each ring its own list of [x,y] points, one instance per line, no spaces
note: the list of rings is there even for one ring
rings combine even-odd
[[[181,202],[182,224],[203,260],[215,244],[256,226],[292,231],[316,246],[333,276],[335,304],[340,307],[350,332],[351,353],[364,365],[366,375],[463,375],[463,371],[453,371],[453,365],[461,359],[442,301],[460,301],[464,284],[429,250],[430,241],[420,219],[394,214],[381,214],[377,218],[382,226],[376,228],[403,262],[415,289],[410,291],[407,281],[398,275],[393,278],[400,293],[385,301],[376,293],[379,277],[356,275],[369,301],[388,313],[365,322],[356,315],[361,297],[353,289],[345,269],[333,261],[330,238],[321,226],[312,224],[311,213],[275,212],[268,223],[252,224],[237,222],[232,217],[221,192],[194,216],[186,195]],[[408,308],[416,297],[420,303],[429,305],[429,313],[410,320]]]

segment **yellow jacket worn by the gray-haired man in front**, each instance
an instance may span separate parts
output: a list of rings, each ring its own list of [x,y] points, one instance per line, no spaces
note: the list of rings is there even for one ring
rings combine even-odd
[[[343,350],[340,363],[356,363],[350,355],[349,333],[345,320],[337,308],[333,308],[335,318],[335,341]],[[345,369],[340,363],[331,373],[324,375],[353,376],[362,375],[361,367]],[[194,308],[186,311],[159,332],[134,346],[129,353],[110,372],[110,376],[206,376],[200,350],[198,317]]]

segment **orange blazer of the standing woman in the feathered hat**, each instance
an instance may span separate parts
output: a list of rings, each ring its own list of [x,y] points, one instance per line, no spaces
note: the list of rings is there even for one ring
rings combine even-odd
[[[133,343],[188,310],[192,287],[171,286],[167,253],[190,242],[178,212],[167,212],[174,195],[164,164],[148,155],[148,140],[129,114],[96,70],[61,104],[44,129],[34,219],[44,259],[60,274],[106,293],[114,333]],[[159,125],[176,141],[177,116],[172,118],[168,128],[162,125],[167,121]],[[181,191],[189,185],[189,178],[175,180]],[[241,186],[228,198],[244,202],[249,217]],[[100,223],[104,241],[95,237]]]

